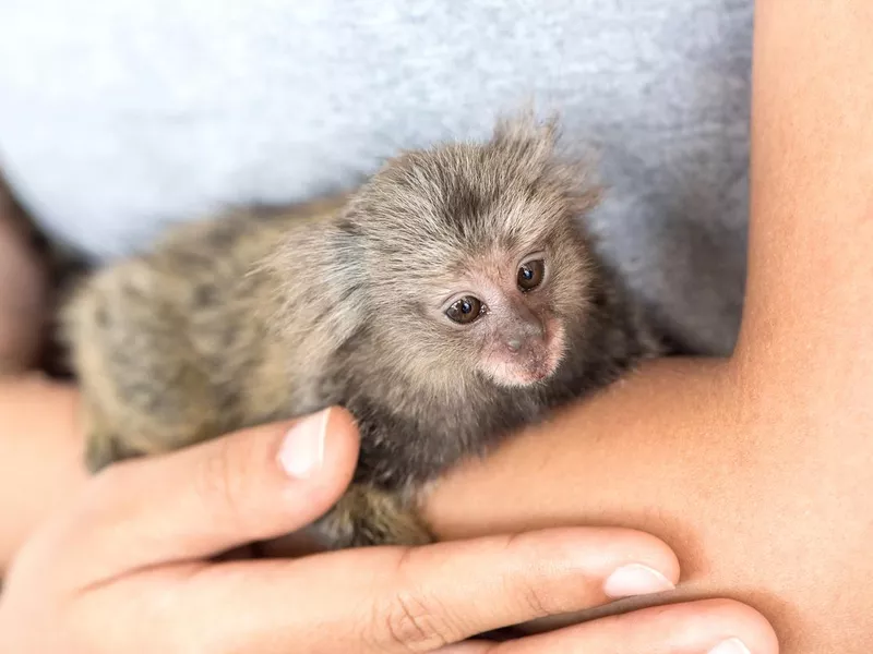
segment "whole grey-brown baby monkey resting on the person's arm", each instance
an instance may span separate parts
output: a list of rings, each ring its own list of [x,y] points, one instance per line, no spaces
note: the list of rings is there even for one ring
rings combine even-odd
[[[347,198],[172,229],[98,271],[65,311],[89,469],[339,404],[360,460],[316,535],[430,542],[430,481],[660,349],[555,132],[502,120]]]

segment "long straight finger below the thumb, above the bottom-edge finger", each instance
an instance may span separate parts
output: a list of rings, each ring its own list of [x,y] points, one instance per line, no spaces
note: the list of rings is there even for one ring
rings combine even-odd
[[[234,564],[189,580],[177,608],[187,630],[214,639],[203,651],[225,652],[234,642],[259,652],[309,651],[330,633],[337,652],[406,653],[669,590],[678,576],[672,552],[647,534],[557,529]],[[241,621],[230,607],[247,602],[259,608]],[[172,619],[178,615],[167,623]]]

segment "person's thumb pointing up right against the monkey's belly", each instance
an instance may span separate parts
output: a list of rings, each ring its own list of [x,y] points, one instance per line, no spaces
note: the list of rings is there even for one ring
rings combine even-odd
[[[94,583],[297,530],[342,495],[357,455],[333,409],[110,467],[60,528],[63,565]]]

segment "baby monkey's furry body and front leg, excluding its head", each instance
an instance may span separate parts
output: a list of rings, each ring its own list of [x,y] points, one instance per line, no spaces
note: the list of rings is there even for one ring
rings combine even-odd
[[[562,232],[572,242],[561,245],[578,255],[564,267],[584,279],[576,289],[584,317],[562,318],[567,344],[547,378],[510,386],[463,371],[455,378],[444,370],[451,344],[445,364],[439,348],[392,347],[404,325],[382,319],[391,298],[362,283],[379,280],[360,269],[375,261],[388,275],[406,267],[415,276],[416,252],[400,261],[411,243],[399,232],[372,246],[379,239],[367,230],[376,219],[367,218],[367,202],[364,194],[171,230],[151,252],[95,275],[67,313],[92,470],[340,404],[359,422],[360,460],[320,534],[334,547],[422,543],[430,536],[415,501],[424,484],[657,353],[584,230]],[[419,319],[428,310],[409,311]]]

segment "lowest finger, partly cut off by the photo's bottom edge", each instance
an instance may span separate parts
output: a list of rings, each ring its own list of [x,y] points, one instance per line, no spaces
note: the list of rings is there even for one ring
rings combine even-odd
[[[441,654],[777,654],[760,613],[729,600],[702,600],[601,618],[505,643],[463,643]]]

